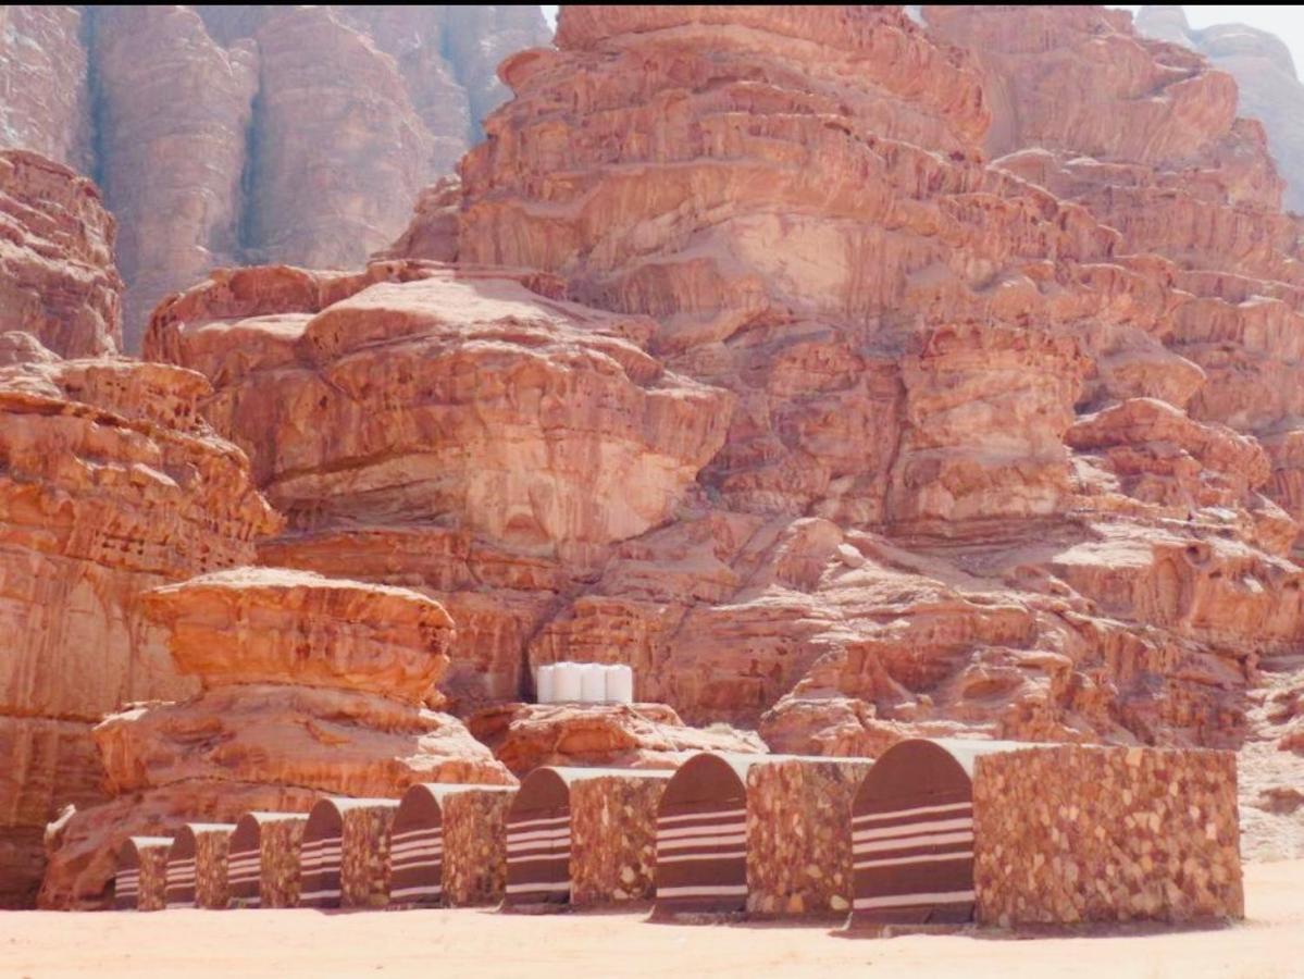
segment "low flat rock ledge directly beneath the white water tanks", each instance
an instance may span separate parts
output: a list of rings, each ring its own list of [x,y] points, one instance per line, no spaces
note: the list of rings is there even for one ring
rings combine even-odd
[[[675,768],[698,751],[767,751],[750,731],[689,727],[664,704],[503,704],[467,726],[518,776],[540,765]]]

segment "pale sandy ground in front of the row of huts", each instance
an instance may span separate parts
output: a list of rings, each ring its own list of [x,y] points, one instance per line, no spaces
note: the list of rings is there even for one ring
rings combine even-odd
[[[643,914],[0,913],[0,976],[1304,976],[1304,860],[1247,866],[1247,920],[1080,937],[846,937]]]

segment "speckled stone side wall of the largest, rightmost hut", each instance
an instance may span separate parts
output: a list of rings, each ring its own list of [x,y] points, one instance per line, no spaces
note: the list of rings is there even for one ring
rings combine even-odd
[[[981,924],[1239,919],[1231,752],[1060,744],[974,770]]]

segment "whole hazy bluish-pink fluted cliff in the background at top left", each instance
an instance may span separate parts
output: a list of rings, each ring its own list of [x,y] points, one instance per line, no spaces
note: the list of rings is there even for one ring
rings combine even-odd
[[[363,262],[548,37],[537,7],[7,7],[0,147],[103,186],[134,352],[210,269]]]

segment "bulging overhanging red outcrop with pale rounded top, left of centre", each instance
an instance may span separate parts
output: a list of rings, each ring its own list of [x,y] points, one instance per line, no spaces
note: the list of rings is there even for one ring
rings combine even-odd
[[[291,524],[265,561],[447,605],[455,705],[524,692],[528,636],[612,542],[672,516],[728,424],[725,392],[639,345],[649,321],[529,287],[549,282],[248,270],[160,306],[146,345],[222,378],[207,413]]]

